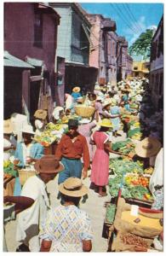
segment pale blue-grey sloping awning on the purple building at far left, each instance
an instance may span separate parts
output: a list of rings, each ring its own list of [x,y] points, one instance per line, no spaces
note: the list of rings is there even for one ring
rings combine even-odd
[[[14,55],[10,55],[7,50],[4,51],[3,55],[3,65],[4,67],[22,67],[22,68],[35,68],[30,64],[26,63],[26,61],[22,61]]]

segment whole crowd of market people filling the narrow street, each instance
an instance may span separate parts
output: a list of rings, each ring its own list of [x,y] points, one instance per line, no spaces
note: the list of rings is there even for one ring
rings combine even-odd
[[[4,203],[14,203],[15,212],[18,214],[16,241],[21,244],[17,247],[17,252],[91,251],[92,224],[88,214],[79,208],[82,196],[88,194],[83,179],[91,170],[90,189],[94,189],[100,197],[107,195],[109,154],[122,155],[112,149],[112,137],[121,137],[122,131],[125,131],[123,113],[137,115],[140,119],[142,140],[148,137],[148,140],[151,138],[159,141],[155,153],[140,157],[153,157],[152,166],[156,166],[156,171],[151,189],[156,197],[161,195],[159,192],[163,180],[160,178],[157,181],[157,173],[162,172],[162,167],[157,165],[161,156],[157,154],[163,144],[163,112],[155,112],[152,108],[148,79],[122,80],[116,86],[96,83],[94,90],[88,91],[85,96],[82,96],[80,87],[74,87],[71,95],[65,95],[65,102],[64,108],[54,108],[51,120],[48,120],[46,110],[37,109],[34,123],[23,125],[20,141],[14,136],[11,120],[4,121],[3,160],[11,160],[14,170],[30,170],[33,166],[37,172],[36,176],[27,179],[23,187],[20,178],[16,177],[14,195],[4,196]],[[94,113],[91,117],[78,116],[76,106],[94,108]],[[63,119],[67,119],[67,123],[59,131],[53,131],[59,137],[55,154],[44,155],[43,145],[34,137],[42,134],[49,121],[55,125],[62,124]],[[161,125],[157,124],[158,120]],[[146,150],[149,145],[148,141]],[[138,157],[140,151],[137,151]],[[157,162],[154,159],[156,156]],[[52,208],[46,184],[56,175],[60,206]]]

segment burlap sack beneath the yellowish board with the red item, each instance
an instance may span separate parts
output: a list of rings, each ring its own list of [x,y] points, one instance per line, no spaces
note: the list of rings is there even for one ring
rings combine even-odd
[[[140,226],[139,224],[136,224],[134,221],[131,223],[129,222],[130,220],[129,221],[123,220],[122,213],[124,211],[130,211],[130,209],[131,209],[131,206],[129,204],[126,204],[123,198],[119,198],[117,202],[117,212],[114,220],[114,227],[117,231],[133,233],[137,236],[143,236],[148,238],[154,238],[155,236],[158,236],[161,233],[161,231],[163,230],[162,227],[160,229],[155,229],[155,228],[152,228],[151,225]],[[146,217],[149,217],[150,219],[152,219],[152,214],[146,213]],[[159,213],[158,219],[159,218],[163,218],[163,214]]]

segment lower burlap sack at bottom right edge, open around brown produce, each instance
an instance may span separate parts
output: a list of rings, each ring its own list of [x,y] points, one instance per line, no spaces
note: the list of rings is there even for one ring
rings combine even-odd
[[[112,242],[112,251],[115,251],[115,252],[123,252],[123,251],[135,252],[135,251],[137,251],[135,245],[125,244],[122,241],[122,239],[120,237],[123,234],[127,234],[127,233],[124,233],[121,231],[117,232],[117,237]],[[151,248],[153,239],[145,239],[144,238],[144,240],[147,242],[147,249]],[[144,251],[143,248],[142,248],[142,251]],[[145,248],[145,251],[146,251],[146,248]]]

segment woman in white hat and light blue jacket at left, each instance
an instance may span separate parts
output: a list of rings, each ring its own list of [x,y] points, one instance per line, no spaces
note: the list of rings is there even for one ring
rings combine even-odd
[[[26,168],[32,162],[37,161],[43,156],[43,146],[33,141],[35,132],[31,125],[26,125],[22,129],[22,142],[17,144],[14,154],[14,165],[17,168]],[[14,195],[20,195],[20,179],[15,178]]]

